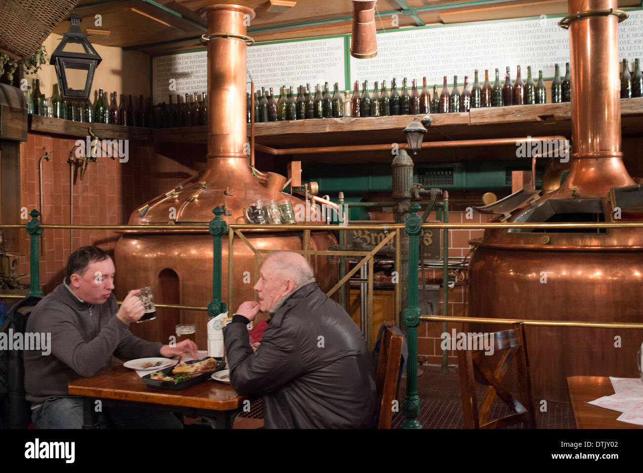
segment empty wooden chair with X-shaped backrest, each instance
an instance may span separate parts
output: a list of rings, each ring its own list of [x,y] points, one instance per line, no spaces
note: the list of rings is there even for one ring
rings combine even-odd
[[[532,397],[529,376],[525,326],[523,323],[514,323],[512,326],[512,330],[493,333],[494,357],[496,353],[500,356],[500,361],[493,371],[489,369],[489,366],[485,366],[488,363],[483,362],[484,359],[490,358],[484,354],[484,350],[458,350],[464,424],[469,429],[497,429],[521,422],[524,422],[530,429],[536,429],[536,411],[534,410],[534,398]],[[472,348],[476,346],[473,344],[476,339],[477,347],[483,346],[481,335],[470,339]],[[467,348],[469,348],[468,340]],[[516,359],[520,400],[514,398],[502,386],[502,380],[512,359]],[[479,410],[476,399],[476,374],[489,385]],[[513,413],[490,420],[489,411],[496,395],[512,409]]]

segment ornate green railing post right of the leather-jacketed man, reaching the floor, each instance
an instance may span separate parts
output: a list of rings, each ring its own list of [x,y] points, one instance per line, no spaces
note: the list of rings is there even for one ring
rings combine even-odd
[[[408,252],[408,305],[403,312],[404,325],[408,327],[406,343],[408,344],[408,360],[406,361],[406,398],[402,404],[402,412],[406,420],[403,429],[421,429],[422,424],[417,420],[420,415],[420,398],[417,395],[417,326],[420,325],[420,308],[417,305],[418,265],[420,258],[421,219],[417,215],[418,204],[411,204],[411,216],[406,220],[406,233],[409,236]]]

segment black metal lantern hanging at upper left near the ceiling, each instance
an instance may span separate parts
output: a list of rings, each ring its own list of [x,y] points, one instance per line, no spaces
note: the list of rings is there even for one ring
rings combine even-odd
[[[87,100],[94,71],[101,58],[87,40],[87,35],[80,30],[82,17],[78,13],[71,13],[68,19],[71,26],[69,31],[63,33],[58,48],[51,54],[51,64],[56,66],[62,98]]]

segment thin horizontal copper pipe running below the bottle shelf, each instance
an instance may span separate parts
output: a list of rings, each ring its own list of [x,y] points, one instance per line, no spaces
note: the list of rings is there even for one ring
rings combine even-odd
[[[457,141],[430,141],[422,143],[422,149],[428,148],[459,148],[459,147],[476,147],[476,146],[498,146],[498,145],[518,145],[523,141],[550,141],[566,139],[565,136],[539,136],[532,138],[493,138],[493,139],[460,139]],[[399,143],[400,149],[408,149],[408,144]],[[347,146],[327,146],[316,148],[282,148],[276,149],[266,145],[255,145],[258,151],[271,154],[273,156],[283,156],[285,154],[314,154],[314,153],[336,153],[344,151],[383,151],[392,150],[388,145],[347,145]]]

